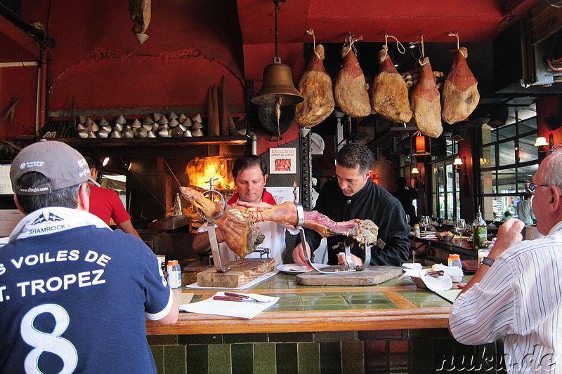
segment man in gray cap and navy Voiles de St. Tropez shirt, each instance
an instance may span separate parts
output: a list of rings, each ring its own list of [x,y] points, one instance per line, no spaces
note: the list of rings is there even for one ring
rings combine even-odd
[[[143,241],[88,213],[88,164],[62,142],[12,163],[25,218],[0,250],[0,371],[156,373],[145,319],[178,304]]]

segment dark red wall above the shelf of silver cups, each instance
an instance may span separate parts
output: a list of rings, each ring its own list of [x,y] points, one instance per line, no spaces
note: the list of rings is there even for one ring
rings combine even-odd
[[[202,112],[207,89],[224,75],[231,110],[244,112],[237,7],[233,0],[220,3],[153,1],[149,38],[139,44],[127,1],[53,1],[48,18],[47,8],[24,0],[25,13],[44,22],[56,41],[48,67],[49,111],[69,110],[75,98],[77,112]]]

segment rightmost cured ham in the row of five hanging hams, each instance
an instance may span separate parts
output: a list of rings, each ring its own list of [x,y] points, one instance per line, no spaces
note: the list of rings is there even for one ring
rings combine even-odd
[[[478,81],[466,64],[466,48],[458,48],[454,53],[455,58],[441,94],[441,117],[450,125],[468,118],[480,101],[480,93],[476,88]]]

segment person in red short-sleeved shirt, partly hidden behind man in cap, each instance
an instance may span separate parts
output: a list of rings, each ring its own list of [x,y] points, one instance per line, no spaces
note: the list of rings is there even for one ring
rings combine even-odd
[[[98,179],[98,164],[92,156],[84,156],[90,168],[92,180]],[[133,234],[142,239],[131,223],[131,216],[125,210],[119,196],[111,189],[98,187],[90,183],[90,213],[98,216],[103,222],[110,225],[111,219],[115,225],[126,234]]]

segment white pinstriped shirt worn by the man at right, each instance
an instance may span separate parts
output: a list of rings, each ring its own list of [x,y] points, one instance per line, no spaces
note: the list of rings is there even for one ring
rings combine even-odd
[[[452,335],[466,345],[504,338],[509,373],[562,373],[562,222],[514,243],[452,307]],[[535,371],[533,371],[535,370]]]

